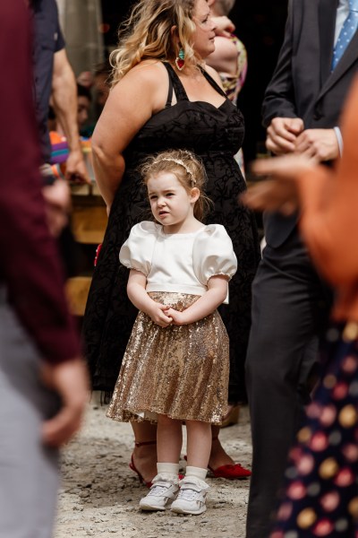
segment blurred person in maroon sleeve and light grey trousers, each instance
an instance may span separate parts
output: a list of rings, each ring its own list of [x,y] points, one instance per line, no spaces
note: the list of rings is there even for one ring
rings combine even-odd
[[[41,194],[30,51],[23,0],[2,2],[0,68],[12,83],[0,89],[1,538],[51,535],[58,447],[80,427],[88,395]]]

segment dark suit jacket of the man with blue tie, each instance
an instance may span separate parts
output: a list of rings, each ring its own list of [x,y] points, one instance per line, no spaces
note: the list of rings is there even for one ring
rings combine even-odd
[[[338,0],[289,0],[286,33],[262,105],[263,124],[273,117],[301,117],[304,127],[339,126],[345,97],[358,71],[358,31],[330,73]],[[282,245],[297,216],[265,215],[271,247]]]

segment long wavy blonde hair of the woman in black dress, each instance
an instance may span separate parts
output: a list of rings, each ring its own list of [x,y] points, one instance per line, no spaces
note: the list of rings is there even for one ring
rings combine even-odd
[[[192,21],[195,0],[140,0],[118,32],[118,48],[110,55],[113,67],[112,85],[120,81],[142,60],[174,61],[179,47],[175,45],[172,28],[176,26],[185,65],[200,63],[192,50]]]

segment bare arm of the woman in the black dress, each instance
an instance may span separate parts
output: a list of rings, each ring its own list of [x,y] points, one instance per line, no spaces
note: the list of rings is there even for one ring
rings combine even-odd
[[[167,90],[163,66],[142,62],[109,94],[92,137],[93,168],[108,209],[124,175],[124,150],[149,118],[164,107]]]

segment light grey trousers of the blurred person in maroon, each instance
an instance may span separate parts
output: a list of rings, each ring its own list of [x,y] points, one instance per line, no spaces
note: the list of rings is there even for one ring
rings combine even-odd
[[[0,538],[52,535],[58,451],[40,436],[58,399],[41,386],[38,368],[38,351],[0,287]]]

